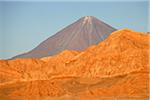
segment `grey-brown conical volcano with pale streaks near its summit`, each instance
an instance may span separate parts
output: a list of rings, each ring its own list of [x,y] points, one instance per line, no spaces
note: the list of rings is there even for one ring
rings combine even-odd
[[[14,58],[42,58],[64,50],[81,51],[98,44],[116,29],[93,16],[82,17],[55,35],[49,37],[33,50]]]

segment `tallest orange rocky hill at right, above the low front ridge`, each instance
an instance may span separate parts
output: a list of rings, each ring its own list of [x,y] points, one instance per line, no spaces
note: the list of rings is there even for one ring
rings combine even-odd
[[[110,77],[148,68],[148,40],[144,33],[116,31],[68,61],[65,72],[79,77]]]

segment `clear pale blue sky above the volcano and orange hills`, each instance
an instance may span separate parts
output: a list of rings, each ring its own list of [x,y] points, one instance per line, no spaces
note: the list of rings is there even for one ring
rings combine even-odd
[[[83,16],[116,29],[148,31],[148,0],[0,0],[0,59],[28,52]]]

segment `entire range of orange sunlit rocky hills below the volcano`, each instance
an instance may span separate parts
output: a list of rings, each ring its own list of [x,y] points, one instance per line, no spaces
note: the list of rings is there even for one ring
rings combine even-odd
[[[149,39],[145,33],[124,29],[83,52],[65,50],[41,59],[1,60],[0,96],[148,100]]]

